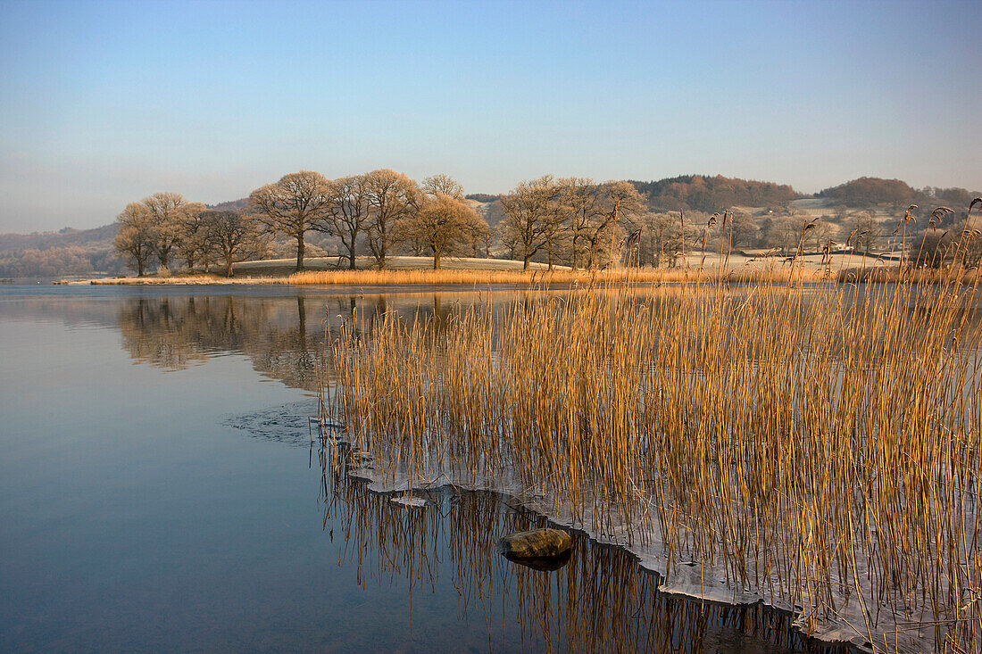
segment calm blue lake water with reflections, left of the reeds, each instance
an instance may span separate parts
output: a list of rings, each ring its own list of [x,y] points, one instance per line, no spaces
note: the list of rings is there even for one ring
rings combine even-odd
[[[408,510],[310,448],[324,328],[473,294],[0,287],[0,650],[754,651],[787,617],[619,550],[499,557],[488,495]]]

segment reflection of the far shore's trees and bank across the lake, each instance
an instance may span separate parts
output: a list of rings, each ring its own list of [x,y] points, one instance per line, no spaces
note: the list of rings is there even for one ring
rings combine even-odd
[[[430,328],[439,331],[451,315],[473,304],[491,303],[491,310],[499,311],[511,302],[519,301],[527,307],[530,302],[547,297],[527,290],[495,294],[476,290],[365,294],[356,289],[316,293],[284,288],[222,295],[206,290],[137,291],[99,289],[112,301],[89,298],[82,291],[68,298],[15,296],[5,302],[3,309],[15,317],[22,313],[31,319],[114,326],[121,333],[123,349],[136,362],[164,370],[184,369],[224,354],[245,354],[266,378],[313,391],[317,370],[329,350],[326,344],[341,335],[341,326],[346,322],[354,325],[355,334],[370,333],[384,314],[394,312],[407,321],[428,320]],[[846,291],[846,305],[861,301],[865,293],[861,286]],[[696,292],[692,287],[639,288],[627,301],[652,302],[653,309],[671,312],[683,294]],[[703,292],[710,294],[709,290]],[[742,302],[752,293],[752,287],[735,285],[727,301]],[[575,301],[579,295],[566,291],[551,297]],[[807,307],[809,292],[803,291],[802,296]],[[712,308],[709,302],[707,310]],[[927,311],[918,302],[911,302],[908,310],[920,314]],[[979,315],[971,312],[967,319],[973,322]]]

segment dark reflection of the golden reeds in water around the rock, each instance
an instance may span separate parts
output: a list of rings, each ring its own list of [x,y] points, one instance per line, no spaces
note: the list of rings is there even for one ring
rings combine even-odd
[[[324,530],[344,539],[339,564],[356,564],[360,586],[403,580],[410,594],[438,592],[439,575],[449,573],[458,619],[483,621],[491,650],[493,626],[517,623],[528,651],[849,651],[802,637],[788,614],[762,605],[660,593],[657,574],[581,534],[573,534],[570,561],[555,572],[510,562],[497,553],[499,536],[547,526],[545,518],[497,494],[452,488],[425,493],[425,507],[407,507],[368,490],[339,459],[319,450]]]

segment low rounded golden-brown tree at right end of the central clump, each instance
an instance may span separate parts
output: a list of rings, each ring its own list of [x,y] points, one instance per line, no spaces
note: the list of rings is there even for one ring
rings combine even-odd
[[[463,199],[435,191],[419,211],[404,221],[402,229],[409,239],[428,245],[433,253],[433,269],[440,268],[446,254],[473,251],[487,238],[490,228]]]

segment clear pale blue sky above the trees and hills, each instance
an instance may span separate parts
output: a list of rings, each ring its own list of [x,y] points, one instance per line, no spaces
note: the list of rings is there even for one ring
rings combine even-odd
[[[982,190],[979,2],[0,0],[0,232],[282,175]]]

